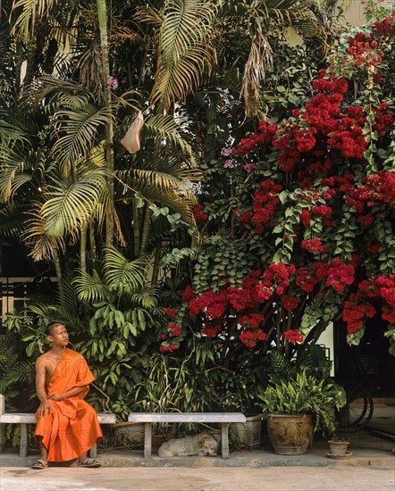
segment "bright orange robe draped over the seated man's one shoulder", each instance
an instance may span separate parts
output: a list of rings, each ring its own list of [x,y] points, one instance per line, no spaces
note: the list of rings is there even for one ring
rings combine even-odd
[[[46,394],[62,394],[73,387],[88,386],[94,380],[85,358],[69,348],[57,364]],[[89,388],[63,401],[49,401],[52,413],[37,418],[35,437],[43,437],[50,462],[65,462],[88,452],[103,433],[93,407],[84,401]]]

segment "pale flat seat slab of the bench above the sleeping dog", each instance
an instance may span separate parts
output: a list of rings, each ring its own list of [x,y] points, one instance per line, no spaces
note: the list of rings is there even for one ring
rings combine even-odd
[[[130,412],[128,421],[140,423],[245,423],[242,412]]]

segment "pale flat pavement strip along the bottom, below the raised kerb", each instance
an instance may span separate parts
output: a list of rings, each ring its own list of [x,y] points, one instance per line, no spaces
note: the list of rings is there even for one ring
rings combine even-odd
[[[2,491],[393,491],[391,468],[6,468]]]

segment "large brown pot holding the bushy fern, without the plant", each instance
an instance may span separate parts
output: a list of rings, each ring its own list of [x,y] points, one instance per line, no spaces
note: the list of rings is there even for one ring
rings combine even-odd
[[[266,420],[274,454],[301,455],[307,452],[313,439],[311,414],[268,414]]]

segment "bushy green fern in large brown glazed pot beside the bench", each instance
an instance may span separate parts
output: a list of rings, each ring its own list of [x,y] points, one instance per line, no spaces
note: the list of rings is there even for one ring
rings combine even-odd
[[[294,378],[270,382],[260,395],[275,454],[305,454],[314,432],[333,434],[335,410],[343,404],[341,387],[317,379],[308,369]]]

